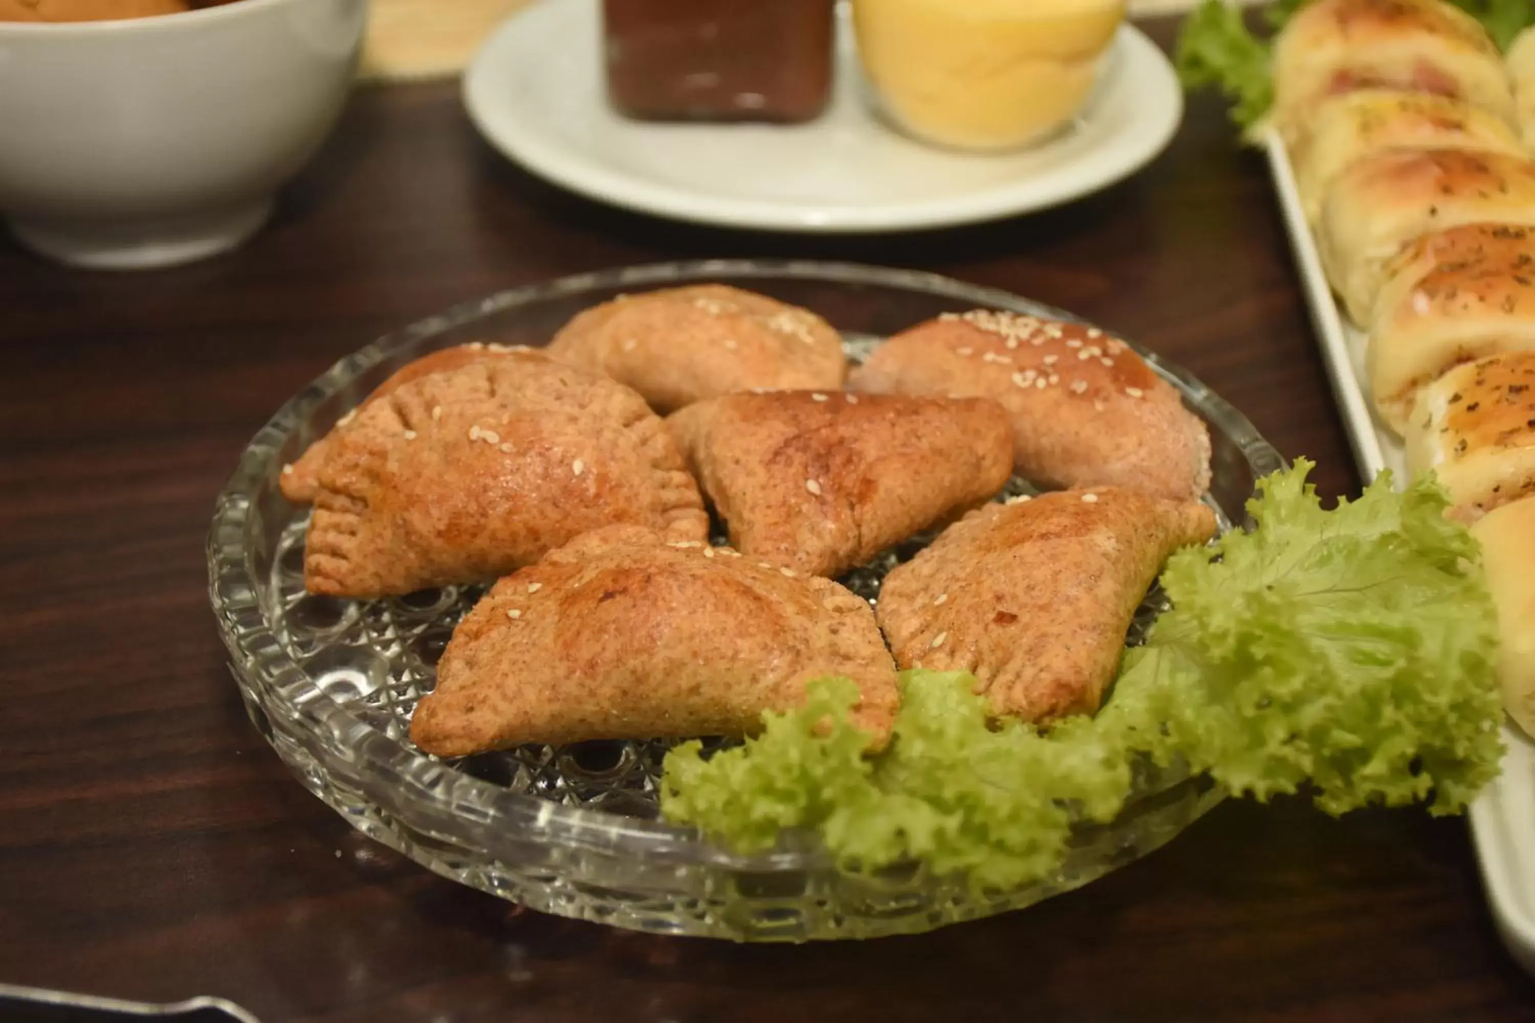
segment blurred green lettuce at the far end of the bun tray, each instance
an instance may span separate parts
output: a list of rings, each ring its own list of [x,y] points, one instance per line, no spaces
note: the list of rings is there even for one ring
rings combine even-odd
[[[1530,0],[1451,0],[1475,17],[1500,49],[1507,49],[1527,26],[1535,25]],[[1279,31],[1306,0],[1276,0],[1263,20]],[[1177,77],[1190,92],[1217,89],[1231,100],[1231,120],[1251,137],[1274,103],[1269,74],[1271,40],[1248,28],[1240,8],[1230,0],[1203,0],[1190,12],[1174,49]]]

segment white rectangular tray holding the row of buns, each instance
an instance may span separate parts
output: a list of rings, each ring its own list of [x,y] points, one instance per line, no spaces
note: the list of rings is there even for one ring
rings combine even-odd
[[[1365,334],[1343,317],[1322,275],[1283,143],[1269,135],[1265,144],[1311,321],[1358,471],[1372,480],[1389,468],[1405,482],[1401,442],[1372,416],[1365,397]],[[1471,833],[1498,931],[1520,965],[1535,972],[1535,744],[1512,724],[1503,725],[1503,741],[1507,745],[1503,773],[1472,804]]]

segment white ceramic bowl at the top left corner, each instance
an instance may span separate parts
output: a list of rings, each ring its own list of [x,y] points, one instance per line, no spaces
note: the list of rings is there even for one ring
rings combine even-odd
[[[66,264],[233,248],[335,126],[367,0],[0,23],[0,213]]]

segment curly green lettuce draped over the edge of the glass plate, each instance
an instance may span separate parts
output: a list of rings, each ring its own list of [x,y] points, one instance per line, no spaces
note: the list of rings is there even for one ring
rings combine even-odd
[[[972,676],[906,672],[893,739],[870,759],[849,722],[857,689],[821,679],[741,747],[672,750],[665,816],[740,851],[803,828],[849,871],[919,860],[1012,888],[1061,865],[1073,819],[1119,813],[1137,755],[1257,799],[1309,784],[1334,814],[1463,808],[1501,758],[1477,544],[1432,480],[1398,494],[1383,475],[1323,511],[1309,468],[1260,483],[1256,531],[1173,555],[1174,609],[1096,718],[998,725]]]

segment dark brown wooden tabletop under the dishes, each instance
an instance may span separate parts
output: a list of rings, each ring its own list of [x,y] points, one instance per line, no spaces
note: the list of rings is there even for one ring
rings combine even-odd
[[[266,417],[385,330],[599,267],[795,255],[1010,288],[1160,350],[1355,489],[1263,167],[1231,138],[1196,101],[1147,172],[1053,213],[769,238],[566,196],[494,156],[453,86],[410,86],[358,95],[233,256],[98,276],[0,242],[0,982],[220,994],[264,1023],[1535,1018],[1458,819],[1226,804],[1082,891],[926,937],[632,936],[352,833],[226,672],[203,540]]]

